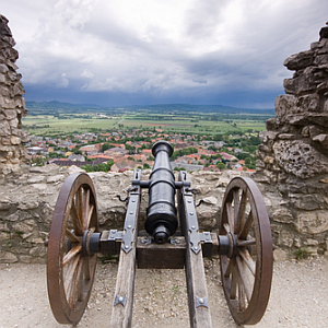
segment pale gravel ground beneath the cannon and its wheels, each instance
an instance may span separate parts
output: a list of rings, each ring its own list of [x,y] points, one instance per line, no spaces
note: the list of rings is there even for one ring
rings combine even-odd
[[[216,260],[206,260],[214,327],[238,327],[220,284]],[[117,263],[98,262],[93,293],[78,328],[109,327]],[[268,309],[254,327],[328,327],[328,259],[274,263]],[[44,265],[0,265],[0,327],[63,327],[54,319]],[[137,270],[132,327],[189,327],[184,270]]]

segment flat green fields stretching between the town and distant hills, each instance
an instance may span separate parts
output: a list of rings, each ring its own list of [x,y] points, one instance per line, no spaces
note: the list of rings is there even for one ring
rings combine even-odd
[[[55,136],[113,129],[161,128],[166,132],[218,134],[226,132],[261,131],[268,117],[260,115],[210,115],[210,114],[122,114],[98,116],[91,114],[35,115],[22,119],[30,134]]]

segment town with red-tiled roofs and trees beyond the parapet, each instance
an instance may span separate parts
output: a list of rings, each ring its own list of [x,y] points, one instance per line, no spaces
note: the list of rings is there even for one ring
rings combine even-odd
[[[153,143],[166,140],[174,147],[171,165],[174,171],[235,169],[254,172],[259,133],[202,136],[166,132],[154,127],[113,129],[109,132],[68,133],[56,137],[31,136],[26,144],[32,165],[57,164],[79,166],[86,172],[125,172],[151,168]]]

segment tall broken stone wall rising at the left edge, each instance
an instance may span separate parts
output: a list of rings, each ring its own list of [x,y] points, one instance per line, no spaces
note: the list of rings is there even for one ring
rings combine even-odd
[[[0,15],[0,173],[20,171],[30,159],[23,143],[30,137],[21,118],[27,114],[23,98],[22,75],[16,73],[19,52],[8,20]]]

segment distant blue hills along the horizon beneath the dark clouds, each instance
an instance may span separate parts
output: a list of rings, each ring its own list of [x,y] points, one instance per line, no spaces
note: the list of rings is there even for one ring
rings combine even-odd
[[[81,113],[220,113],[220,114],[260,114],[274,115],[274,109],[258,108],[236,108],[224,105],[189,105],[189,104],[155,104],[148,106],[124,106],[124,107],[103,107],[91,104],[71,104],[60,102],[26,102],[28,115],[58,115],[58,114],[81,114]]]

